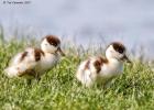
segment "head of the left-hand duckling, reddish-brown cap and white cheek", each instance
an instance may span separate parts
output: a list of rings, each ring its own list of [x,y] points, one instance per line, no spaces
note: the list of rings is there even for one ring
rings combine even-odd
[[[41,50],[45,53],[59,53],[62,56],[65,56],[64,52],[61,50],[61,40],[54,35],[47,35],[43,38]]]

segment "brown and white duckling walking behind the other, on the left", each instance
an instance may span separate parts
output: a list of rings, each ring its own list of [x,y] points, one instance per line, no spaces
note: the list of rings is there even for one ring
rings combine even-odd
[[[41,48],[29,47],[24,52],[15,55],[4,74],[12,77],[29,76],[29,78],[40,79],[45,70],[55,66],[65,54],[61,50],[61,41],[54,35],[47,35],[41,43]],[[26,77],[28,78],[28,77]]]

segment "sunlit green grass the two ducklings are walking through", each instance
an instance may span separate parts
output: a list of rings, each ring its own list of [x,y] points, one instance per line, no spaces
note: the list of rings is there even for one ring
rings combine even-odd
[[[59,65],[28,86],[3,75],[8,61],[24,47],[22,41],[0,46],[0,110],[154,110],[154,73],[146,65],[125,64],[110,88],[85,88],[74,76],[88,54],[69,48]]]

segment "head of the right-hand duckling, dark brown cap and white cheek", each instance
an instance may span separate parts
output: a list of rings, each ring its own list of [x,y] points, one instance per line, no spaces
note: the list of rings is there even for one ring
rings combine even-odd
[[[108,59],[118,59],[120,62],[127,61],[131,63],[127,56],[127,48],[122,43],[113,42],[106,50],[106,57]]]

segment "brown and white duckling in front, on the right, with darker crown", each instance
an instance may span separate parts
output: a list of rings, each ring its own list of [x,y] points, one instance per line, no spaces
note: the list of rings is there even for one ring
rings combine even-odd
[[[111,43],[106,50],[106,58],[90,57],[79,65],[76,77],[86,87],[102,84],[103,87],[123,72],[123,63],[131,63],[125,55],[125,47],[119,42]]]

